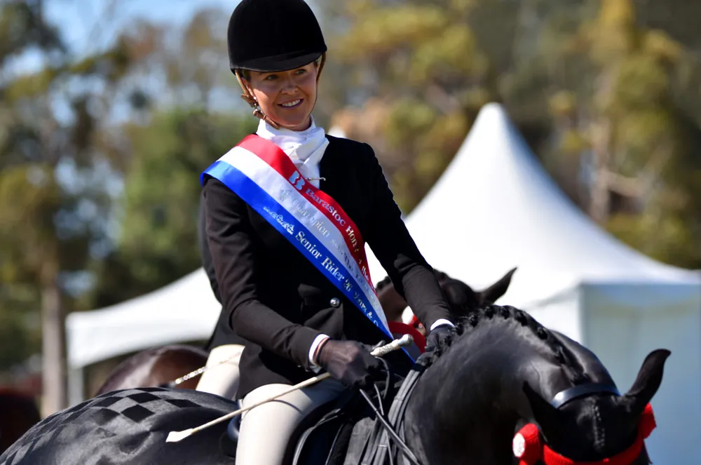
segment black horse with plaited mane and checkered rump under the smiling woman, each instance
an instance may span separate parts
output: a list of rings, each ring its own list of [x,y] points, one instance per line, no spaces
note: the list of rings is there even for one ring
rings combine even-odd
[[[649,429],[644,411],[669,351],[650,353],[632,388],[620,395],[592,352],[513,307],[479,310],[458,332],[449,347],[437,349],[407,405],[406,443],[421,464],[519,463],[512,441],[535,425],[539,433],[529,436],[531,458],[523,464],[554,463],[533,455],[534,439],[538,450],[574,462],[628,454],[617,463],[649,463],[640,429]],[[0,456],[0,465],[232,464],[220,447],[226,422],[179,443],[165,438],[234,408],[198,391],[107,393],[44,419]]]

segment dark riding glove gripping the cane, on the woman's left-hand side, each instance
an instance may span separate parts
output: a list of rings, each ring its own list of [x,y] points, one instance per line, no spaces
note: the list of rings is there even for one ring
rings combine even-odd
[[[370,386],[383,366],[357,341],[329,339],[322,345],[317,360],[332,377],[348,387],[360,389]]]

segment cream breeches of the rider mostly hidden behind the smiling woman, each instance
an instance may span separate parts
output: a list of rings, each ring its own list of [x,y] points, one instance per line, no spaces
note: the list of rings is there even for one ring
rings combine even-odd
[[[241,352],[243,352],[243,346],[238,344],[227,344],[212,349],[207,358],[207,371],[200,376],[196,390],[236,400],[239,382],[238,361],[241,358]],[[227,361],[224,362],[224,360]]]

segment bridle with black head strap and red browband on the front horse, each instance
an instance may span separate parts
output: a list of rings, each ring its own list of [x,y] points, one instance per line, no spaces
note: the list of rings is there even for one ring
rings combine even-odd
[[[620,391],[613,384],[580,384],[557,393],[550,401],[550,405],[560,408],[571,400],[597,393],[613,393],[620,396]],[[516,433],[512,446],[515,457],[519,459],[519,465],[536,465],[538,461],[542,461],[545,465],[630,465],[643,450],[645,440],[655,426],[653,407],[648,404],[638,422],[638,434],[632,445],[613,457],[599,461],[578,462],[558,454],[548,447],[540,435],[538,426],[533,423],[526,424]]]

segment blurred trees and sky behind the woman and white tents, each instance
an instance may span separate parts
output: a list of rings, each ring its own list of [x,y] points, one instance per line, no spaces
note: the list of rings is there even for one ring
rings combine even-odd
[[[258,121],[226,57],[236,4],[0,1],[0,386],[44,415],[68,405],[68,314],[200,267],[199,173]],[[405,215],[499,102],[592,221],[701,269],[700,2],[310,4],[315,119],[372,144]],[[87,367],[86,394],[127,355]]]

